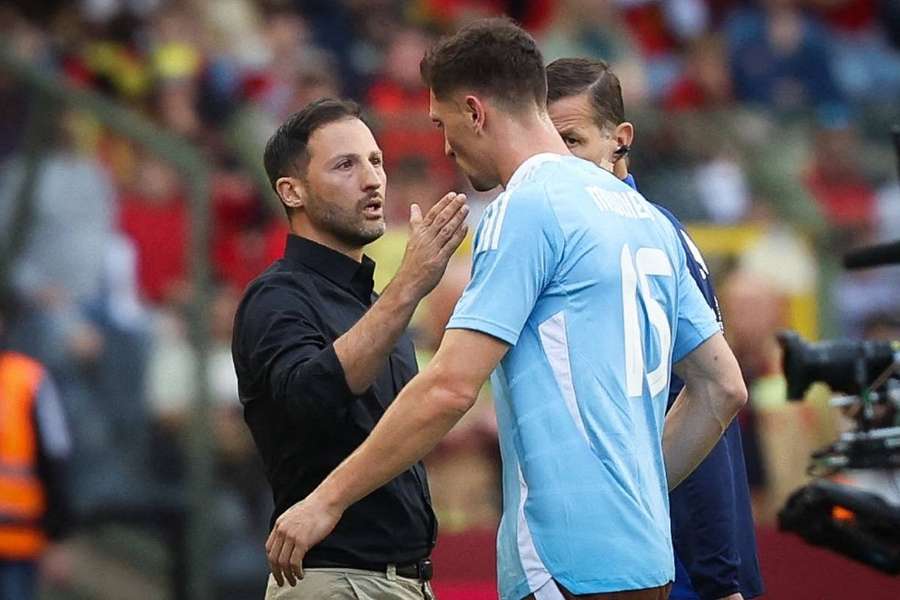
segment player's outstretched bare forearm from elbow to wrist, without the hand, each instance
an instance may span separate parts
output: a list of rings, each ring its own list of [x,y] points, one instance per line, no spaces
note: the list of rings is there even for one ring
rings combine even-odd
[[[454,389],[455,388],[455,389]],[[435,370],[413,378],[369,437],[316,489],[343,512],[430,452],[475,402],[478,388],[461,392]]]

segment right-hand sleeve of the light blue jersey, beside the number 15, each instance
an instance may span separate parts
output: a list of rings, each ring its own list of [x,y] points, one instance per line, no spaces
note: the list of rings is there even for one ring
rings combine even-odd
[[[684,248],[678,245],[678,314],[672,362],[677,363],[697,346],[721,331],[715,312],[694,281]]]

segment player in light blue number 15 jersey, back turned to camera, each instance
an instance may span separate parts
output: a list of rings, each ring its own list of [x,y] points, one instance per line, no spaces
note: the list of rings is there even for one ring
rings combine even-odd
[[[300,576],[306,550],[431,450],[494,371],[503,600],[663,599],[667,492],[746,401],[734,355],[666,218],[553,128],[530,35],[476,21],[432,48],[422,75],[447,155],[475,189],[504,192],[482,217],[472,280],[434,359],[278,519],[273,575]],[[665,417],[673,362],[685,389]]]

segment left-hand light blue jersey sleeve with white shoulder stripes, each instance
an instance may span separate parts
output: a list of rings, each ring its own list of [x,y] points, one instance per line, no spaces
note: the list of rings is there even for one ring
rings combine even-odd
[[[501,194],[475,235],[472,279],[447,329],[471,329],[515,345],[553,279],[563,234],[543,189]]]

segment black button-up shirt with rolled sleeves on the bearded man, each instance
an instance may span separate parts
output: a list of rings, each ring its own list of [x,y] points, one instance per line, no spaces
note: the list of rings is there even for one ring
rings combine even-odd
[[[241,300],[232,354],[244,418],[262,455],[278,515],[305,498],[369,435],[416,374],[404,334],[375,383],[355,395],[334,341],[376,299],[375,263],[288,236],[284,258]],[[437,523],[425,469],[416,464],[344,513],[305,566],[378,568],[429,555]]]

